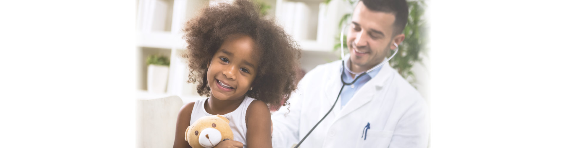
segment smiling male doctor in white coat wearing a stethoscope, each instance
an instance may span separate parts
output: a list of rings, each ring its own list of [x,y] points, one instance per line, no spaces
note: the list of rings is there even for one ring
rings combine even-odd
[[[404,0],[362,0],[350,22],[348,60],[317,66],[298,84],[290,108],[272,116],[273,147],[298,143],[329,111],[300,147],[427,147],[425,100],[386,60],[404,40],[408,6]]]

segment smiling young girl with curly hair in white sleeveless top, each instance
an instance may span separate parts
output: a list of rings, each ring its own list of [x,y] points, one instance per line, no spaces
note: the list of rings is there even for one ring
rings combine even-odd
[[[181,108],[174,147],[190,147],[187,126],[212,115],[229,119],[234,134],[217,147],[272,147],[268,108],[282,106],[295,90],[299,46],[247,0],[205,7],[184,32],[189,82],[210,98]]]

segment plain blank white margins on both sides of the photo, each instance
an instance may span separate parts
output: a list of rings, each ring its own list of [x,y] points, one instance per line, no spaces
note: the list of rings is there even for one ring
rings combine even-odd
[[[566,1],[429,3],[431,147],[568,147]],[[135,1],[0,2],[0,147],[134,147]]]

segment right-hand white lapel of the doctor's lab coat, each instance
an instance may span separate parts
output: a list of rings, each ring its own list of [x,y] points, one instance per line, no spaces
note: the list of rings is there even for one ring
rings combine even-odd
[[[345,104],[345,107],[341,109],[339,116],[336,116],[336,120],[370,102],[371,99],[375,98],[375,95],[378,95],[379,92],[385,90],[383,86],[385,86],[388,79],[392,79],[392,73],[394,73],[394,69],[392,69],[389,62],[387,62],[383,65],[377,76],[370,79],[369,82],[365,83],[357,92],[355,92],[355,94],[353,94],[353,98],[351,98],[349,102]]]

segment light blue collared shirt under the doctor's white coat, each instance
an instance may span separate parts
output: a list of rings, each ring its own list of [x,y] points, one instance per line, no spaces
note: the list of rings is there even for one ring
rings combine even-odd
[[[344,73],[341,74],[341,77],[343,77],[343,80],[346,83],[353,82],[353,79],[355,79],[359,76],[359,75],[355,75],[354,78],[351,77],[352,71],[349,70],[351,68],[349,66],[350,62],[351,62],[351,60],[347,60],[345,62],[345,65],[343,65],[343,66],[345,66],[346,69],[345,69]],[[347,104],[349,102],[349,100],[351,100],[351,98],[353,98],[353,95],[355,94],[355,92],[357,92],[357,90],[359,90],[359,88],[361,88],[361,86],[363,86],[365,83],[369,82],[369,80],[371,80],[372,78],[377,76],[377,74],[379,73],[381,68],[382,68],[382,65],[380,67],[377,67],[377,68],[369,71],[369,73],[363,73],[361,78],[357,79],[357,82],[355,82],[351,85],[346,85],[345,87],[343,87],[343,91],[341,91],[341,108],[342,109],[345,106],[345,104]]]

